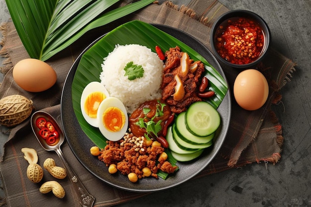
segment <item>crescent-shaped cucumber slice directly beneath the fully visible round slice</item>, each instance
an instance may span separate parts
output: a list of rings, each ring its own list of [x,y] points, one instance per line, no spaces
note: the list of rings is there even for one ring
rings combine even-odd
[[[191,143],[191,144],[204,144],[210,142],[214,136],[215,133],[206,136],[206,137],[198,137],[193,135],[189,130],[187,130],[186,121],[185,121],[185,115],[186,112],[180,113],[176,117],[176,125],[175,125],[175,131],[177,135],[184,141]]]

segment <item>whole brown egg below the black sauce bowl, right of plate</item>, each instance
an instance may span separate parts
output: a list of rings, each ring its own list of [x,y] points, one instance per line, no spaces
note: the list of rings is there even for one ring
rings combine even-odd
[[[265,76],[256,69],[240,72],[234,81],[233,94],[237,104],[252,111],[262,107],[269,95],[269,86]]]

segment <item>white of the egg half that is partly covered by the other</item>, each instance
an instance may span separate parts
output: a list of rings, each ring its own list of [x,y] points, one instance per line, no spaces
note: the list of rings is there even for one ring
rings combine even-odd
[[[99,92],[102,92],[103,94],[105,94],[106,98],[110,97],[107,89],[100,82],[93,81],[93,82],[88,83],[85,86],[85,88],[82,91],[81,99],[80,99],[80,107],[81,107],[81,112],[82,112],[83,118],[85,119],[85,121],[88,124],[90,124],[93,127],[98,127],[97,118],[91,118],[85,113],[84,102],[85,102],[85,100],[89,94],[96,92],[96,91],[99,91]]]

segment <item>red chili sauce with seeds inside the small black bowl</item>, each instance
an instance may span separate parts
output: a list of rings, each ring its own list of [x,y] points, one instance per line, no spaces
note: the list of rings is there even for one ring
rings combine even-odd
[[[249,64],[262,52],[264,34],[260,25],[252,19],[232,18],[219,26],[215,45],[219,55],[228,62],[236,65]]]

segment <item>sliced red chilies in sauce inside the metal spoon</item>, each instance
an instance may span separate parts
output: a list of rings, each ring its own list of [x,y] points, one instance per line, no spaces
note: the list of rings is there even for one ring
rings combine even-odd
[[[36,126],[40,129],[40,137],[43,138],[48,145],[55,145],[59,142],[59,133],[51,122],[48,122],[43,117],[39,117],[36,120]]]

